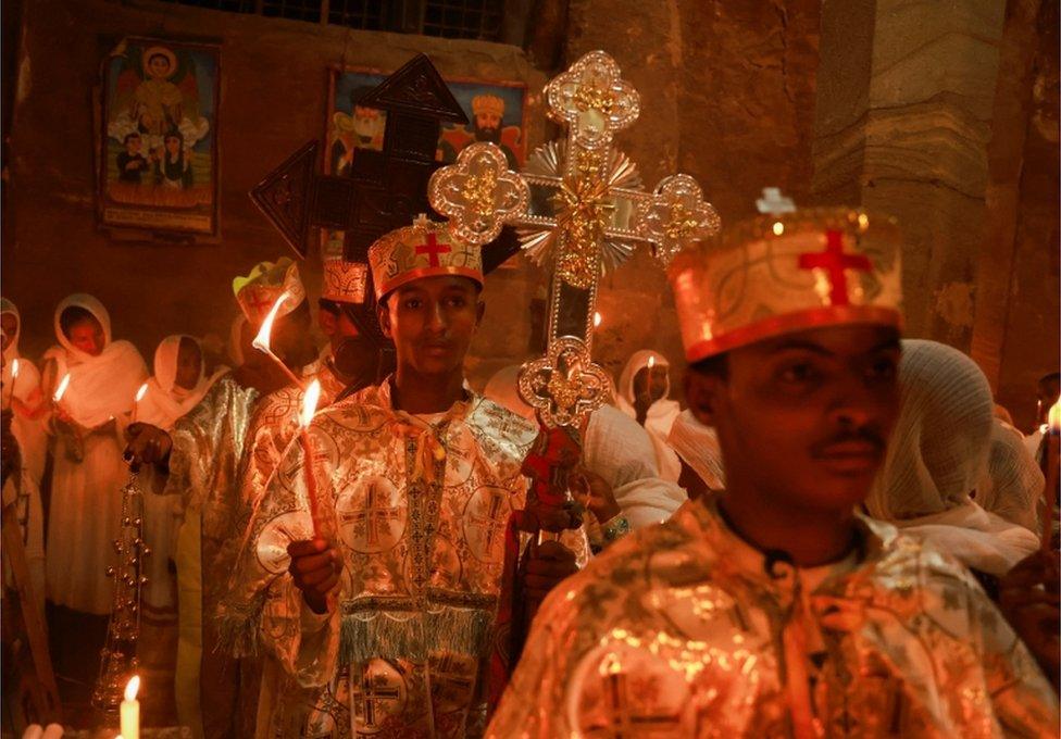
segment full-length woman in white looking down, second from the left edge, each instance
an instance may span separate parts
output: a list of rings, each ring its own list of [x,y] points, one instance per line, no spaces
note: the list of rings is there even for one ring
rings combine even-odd
[[[80,320],[72,323],[74,316]],[[64,321],[77,339],[63,330]],[[129,475],[122,460],[123,431],[148,373],[132,343],[111,340],[110,315],[91,296],[65,298],[55,309],[54,327],[59,345],[45,353],[46,388],[51,394],[67,373],[70,385],[52,417],[59,443],[48,519],[48,598],[75,611],[108,614],[113,586],[107,568],[114,563],[121,491]]]

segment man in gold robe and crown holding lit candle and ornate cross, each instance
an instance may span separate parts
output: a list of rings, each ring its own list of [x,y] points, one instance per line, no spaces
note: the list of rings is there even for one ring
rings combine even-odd
[[[251,518],[226,630],[283,671],[263,691],[264,734],[475,736],[504,529],[537,428],[464,383],[486,308],[477,247],[417,218],[369,261],[397,373],[317,412],[308,442],[288,446]],[[334,539],[314,534],[311,500]],[[574,568],[545,542],[525,591],[539,598]],[[378,700],[352,699],[366,690]]]

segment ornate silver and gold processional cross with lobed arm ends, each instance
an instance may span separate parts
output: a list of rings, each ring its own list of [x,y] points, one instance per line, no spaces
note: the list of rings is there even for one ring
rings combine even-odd
[[[459,238],[486,243],[513,225],[530,258],[553,267],[548,348],[523,365],[520,393],[546,425],[571,426],[610,391],[591,359],[604,267],[622,264],[638,245],[665,266],[686,241],[716,231],[720,220],[692,177],[666,177],[647,192],[634,163],[612,147],[640,102],[607,53],[579,59],[545,96],[550,117],[567,129],[564,140],[540,147],[523,173],[510,171],[492,143],[467,147],[432,176],[428,199]]]

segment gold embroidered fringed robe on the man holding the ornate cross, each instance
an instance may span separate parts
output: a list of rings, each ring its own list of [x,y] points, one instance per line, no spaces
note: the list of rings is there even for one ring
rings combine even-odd
[[[274,737],[482,732],[504,527],[537,429],[469,393],[433,423],[396,411],[389,383],[316,415],[320,505],[344,571],[332,610],[305,608],[287,546],[313,535],[300,440],[257,505],[224,619],[307,690],[285,691]],[[261,736],[261,735],[260,735]]]

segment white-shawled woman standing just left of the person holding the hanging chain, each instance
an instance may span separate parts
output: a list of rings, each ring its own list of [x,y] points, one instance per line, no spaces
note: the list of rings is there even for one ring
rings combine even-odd
[[[194,363],[192,372],[178,367]],[[175,334],[162,339],[154,350],[154,376],[137,403],[136,419],[168,431],[177,418],[199,404],[207,391],[225,373],[222,366],[209,377],[205,374],[202,347],[192,336]],[[148,585],[143,591],[145,613],[155,619],[175,619],[174,577],[170,560],[176,555],[176,535],[180,524],[179,496],[161,493],[162,480],[153,465],[141,468],[143,479],[143,539],[152,554],[148,558]]]

